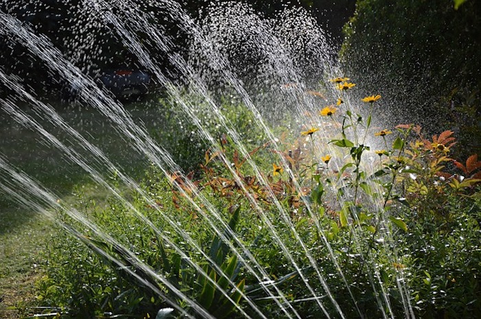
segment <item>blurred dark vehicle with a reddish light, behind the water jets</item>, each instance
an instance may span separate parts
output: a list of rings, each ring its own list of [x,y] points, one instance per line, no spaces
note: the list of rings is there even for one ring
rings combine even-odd
[[[107,89],[120,101],[135,101],[142,99],[149,91],[150,75],[139,70],[108,70],[100,72],[94,77],[98,86]],[[77,98],[78,86],[76,83],[64,90],[63,99],[72,101]]]

